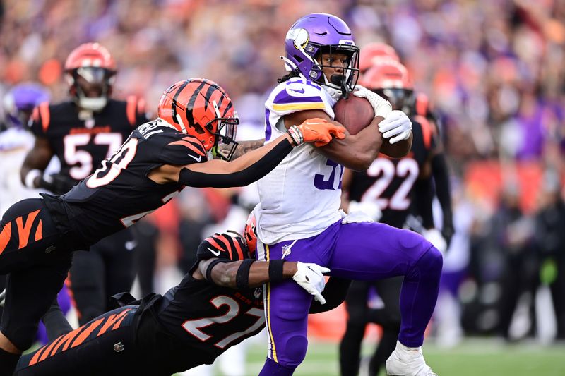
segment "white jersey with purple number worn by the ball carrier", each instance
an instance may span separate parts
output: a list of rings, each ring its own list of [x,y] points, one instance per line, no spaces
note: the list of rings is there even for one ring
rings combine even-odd
[[[292,78],[280,83],[265,104],[265,143],[287,131],[283,116],[321,109],[333,119],[335,102],[328,92],[309,80]],[[310,144],[295,147],[258,181],[261,203],[254,212],[262,243],[309,238],[340,219],[343,166],[315,149]]]

